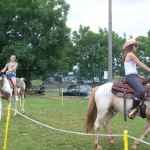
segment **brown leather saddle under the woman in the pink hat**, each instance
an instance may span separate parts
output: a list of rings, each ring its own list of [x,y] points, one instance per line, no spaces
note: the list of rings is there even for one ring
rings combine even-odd
[[[145,89],[145,95],[141,100],[143,105],[144,105],[144,101],[150,100],[150,82],[149,81],[150,81],[149,78],[145,78],[142,82],[142,85]],[[126,121],[126,99],[133,99],[136,91],[129,84],[127,84],[126,79],[124,77],[118,81],[113,82],[111,91],[114,95],[124,98],[124,119]],[[141,115],[141,117],[145,118],[146,114]]]

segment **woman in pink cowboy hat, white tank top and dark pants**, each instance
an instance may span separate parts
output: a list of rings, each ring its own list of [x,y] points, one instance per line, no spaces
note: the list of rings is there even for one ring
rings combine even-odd
[[[140,99],[145,93],[144,87],[142,86],[139,78],[144,79],[143,76],[138,75],[136,65],[150,72],[150,68],[142,63],[136,56],[139,42],[134,39],[127,40],[123,45],[124,54],[122,60],[124,62],[126,81],[130,84],[136,91],[135,97],[133,98],[132,107],[129,109],[128,117],[134,119],[136,107],[138,106]]]

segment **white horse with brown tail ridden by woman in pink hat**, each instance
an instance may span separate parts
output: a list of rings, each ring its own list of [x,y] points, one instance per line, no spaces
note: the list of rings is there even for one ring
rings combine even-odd
[[[133,99],[127,98],[124,110],[124,98],[113,94],[112,86],[112,82],[97,86],[93,89],[89,97],[85,127],[87,133],[94,129],[94,147],[98,150],[103,149],[98,140],[100,127],[103,126],[108,134],[108,143],[111,146],[114,146],[114,137],[108,127],[108,124],[117,112],[127,114],[133,102]],[[145,131],[139,140],[134,141],[133,146],[131,146],[132,150],[136,150],[140,144],[140,140],[143,140],[150,133],[150,101],[144,101],[144,104],[146,105],[145,113],[147,118]],[[140,116],[139,111],[136,112],[136,115]]]

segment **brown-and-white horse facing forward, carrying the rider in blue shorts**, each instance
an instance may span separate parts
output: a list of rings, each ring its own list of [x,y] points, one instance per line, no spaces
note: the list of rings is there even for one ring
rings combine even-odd
[[[22,114],[25,114],[24,111],[24,103],[25,103],[25,89],[26,89],[26,84],[23,81],[23,78],[16,78],[17,80],[17,93],[18,97],[21,98],[22,100],[22,107],[21,107],[21,112]],[[8,101],[8,104],[11,104],[11,99],[13,98],[13,84],[10,79],[7,79],[7,77],[3,74],[0,73],[0,121],[1,121],[1,116],[2,116],[2,99],[5,99]],[[18,101],[15,100],[15,113],[14,116],[17,115],[18,112]]]

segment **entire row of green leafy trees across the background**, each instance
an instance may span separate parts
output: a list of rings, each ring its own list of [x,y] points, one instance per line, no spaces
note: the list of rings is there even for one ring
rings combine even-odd
[[[65,0],[1,0],[0,1],[0,68],[16,54],[17,76],[27,80],[43,79],[54,71],[107,68],[108,31],[79,26],[71,31],[66,25],[70,5]],[[132,37],[132,36],[130,36]],[[130,38],[129,37],[129,38]],[[112,32],[113,70],[122,66],[122,45],[127,37]],[[149,66],[150,31],[136,38],[141,44],[137,55]]]

